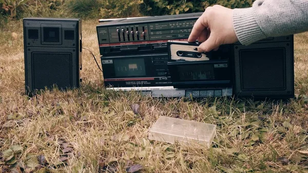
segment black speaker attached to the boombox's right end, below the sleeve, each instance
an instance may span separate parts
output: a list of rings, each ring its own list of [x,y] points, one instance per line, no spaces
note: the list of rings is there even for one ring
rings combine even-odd
[[[293,35],[234,45],[234,93],[238,97],[294,98]]]

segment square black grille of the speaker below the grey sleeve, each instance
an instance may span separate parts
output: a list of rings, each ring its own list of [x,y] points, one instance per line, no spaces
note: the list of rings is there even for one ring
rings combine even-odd
[[[242,90],[284,90],[284,60],[284,48],[241,50]]]

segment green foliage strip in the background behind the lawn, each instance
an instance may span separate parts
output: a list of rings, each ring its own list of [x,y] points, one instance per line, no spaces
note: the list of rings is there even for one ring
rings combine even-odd
[[[0,24],[23,17],[117,18],[204,11],[215,4],[246,8],[254,0],[0,0]]]

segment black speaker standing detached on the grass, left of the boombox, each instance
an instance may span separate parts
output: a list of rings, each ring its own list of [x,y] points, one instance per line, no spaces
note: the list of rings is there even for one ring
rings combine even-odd
[[[72,18],[24,18],[26,93],[80,87],[82,22]]]

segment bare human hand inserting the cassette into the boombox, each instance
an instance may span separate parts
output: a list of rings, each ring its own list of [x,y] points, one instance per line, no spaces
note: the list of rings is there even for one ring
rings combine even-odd
[[[232,22],[232,9],[220,5],[207,7],[198,18],[188,38],[188,42],[203,42],[199,52],[218,50],[220,45],[238,41]]]

